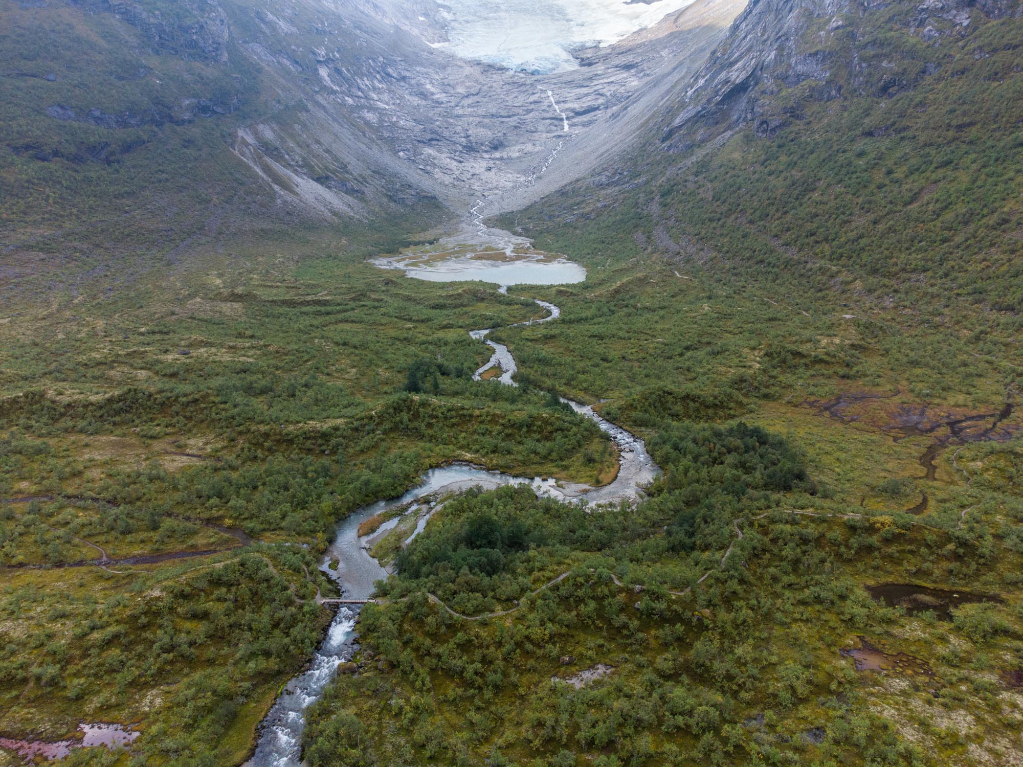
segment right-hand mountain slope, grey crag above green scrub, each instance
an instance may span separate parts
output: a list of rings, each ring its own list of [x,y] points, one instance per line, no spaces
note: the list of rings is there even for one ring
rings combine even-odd
[[[753,2],[628,160],[518,221],[686,264],[812,272],[885,305],[913,296],[914,311],[1016,311],[1021,13]]]

